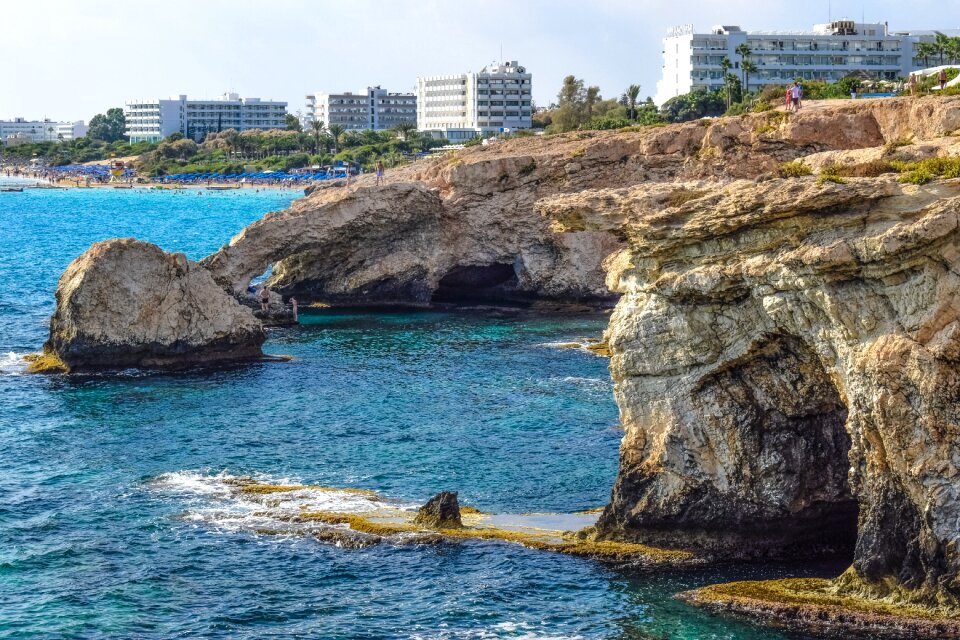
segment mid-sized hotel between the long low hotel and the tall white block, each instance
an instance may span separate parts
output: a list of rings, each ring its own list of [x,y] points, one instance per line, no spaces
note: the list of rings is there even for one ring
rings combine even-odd
[[[390,93],[379,86],[357,93],[315,93],[307,96],[304,127],[314,120],[348,130],[392,129],[402,122],[416,124],[417,96]]]

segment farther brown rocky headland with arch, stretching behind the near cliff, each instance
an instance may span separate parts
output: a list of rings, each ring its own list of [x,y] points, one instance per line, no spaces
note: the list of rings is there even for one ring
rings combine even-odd
[[[270,285],[301,300],[392,303],[603,300],[614,234],[558,234],[542,198],[586,189],[775,173],[816,152],[869,149],[960,127],[960,101],[864,101],[635,131],[574,132],[475,146],[388,172],[375,187],[316,188],[203,261],[242,291]]]

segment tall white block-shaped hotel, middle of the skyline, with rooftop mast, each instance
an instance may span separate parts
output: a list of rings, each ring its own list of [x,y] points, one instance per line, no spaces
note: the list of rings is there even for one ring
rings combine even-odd
[[[452,141],[529,129],[532,95],[533,76],[516,60],[417,78],[417,128]]]

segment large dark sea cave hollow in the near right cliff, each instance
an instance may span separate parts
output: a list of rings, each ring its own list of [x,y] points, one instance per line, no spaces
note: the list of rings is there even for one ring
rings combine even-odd
[[[698,395],[707,428],[721,434],[717,453],[729,448],[741,461],[741,507],[756,509],[743,540],[788,557],[852,561],[858,506],[847,477],[847,407],[817,355],[793,336],[768,336]]]

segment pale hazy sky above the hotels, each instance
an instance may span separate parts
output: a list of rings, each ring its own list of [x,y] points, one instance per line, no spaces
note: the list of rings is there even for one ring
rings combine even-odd
[[[89,120],[126,100],[226,91],[302,110],[304,95],[479,71],[533,73],[534,100],[564,76],[617,98],[656,93],[667,29],[809,30],[849,17],[891,29],[960,28],[960,0],[30,0],[4,3],[0,119]]]

